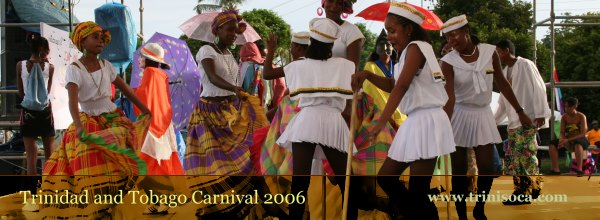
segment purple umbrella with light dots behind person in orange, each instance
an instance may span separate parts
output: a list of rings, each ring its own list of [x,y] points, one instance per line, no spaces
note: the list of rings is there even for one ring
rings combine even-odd
[[[194,105],[200,100],[200,71],[185,41],[155,33],[144,45],[147,43],[158,43],[165,49],[165,62],[171,66],[165,72],[169,75],[173,126],[179,131],[187,125]],[[137,88],[142,81],[143,70],[137,62],[140,56],[138,49],[133,59],[136,62],[133,62],[132,88]]]

